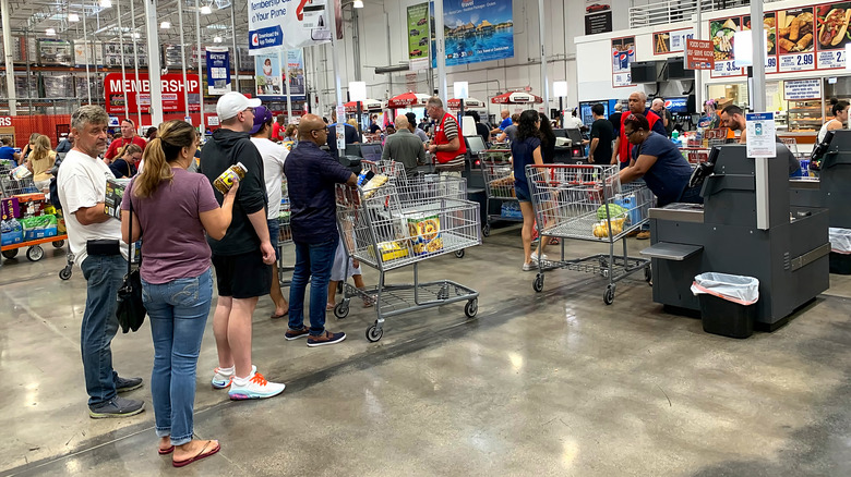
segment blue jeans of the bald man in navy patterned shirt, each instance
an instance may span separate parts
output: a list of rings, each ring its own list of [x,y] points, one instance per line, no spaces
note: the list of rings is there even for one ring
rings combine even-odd
[[[296,244],[296,269],[289,284],[289,328],[304,326],[304,291],[310,282],[310,334],[325,332],[325,304],[328,301],[328,280],[337,252],[337,238],[321,244]]]

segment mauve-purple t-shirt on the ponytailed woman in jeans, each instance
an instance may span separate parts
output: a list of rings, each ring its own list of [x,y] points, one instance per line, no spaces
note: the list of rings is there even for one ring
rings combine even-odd
[[[213,186],[203,174],[171,171],[173,181],[163,181],[149,197],[124,194],[142,225],[142,280],[154,284],[199,277],[209,268],[200,215],[218,208]],[[121,210],[130,210],[130,200],[121,201]]]

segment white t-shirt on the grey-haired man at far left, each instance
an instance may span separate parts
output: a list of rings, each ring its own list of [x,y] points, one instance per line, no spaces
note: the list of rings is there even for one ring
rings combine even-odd
[[[59,200],[62,203],[71,253],[74,254],[74,262],[77,266],[81,266],[88,256],[86,242],[94,240],[121,242],[120,220],[110,218],[106,222],[83,225],[74,215],[82,207],[94,207],[104,201],[107,179],[116,179],[109,166],[76,149],[71,149],[59,167],[57,179]],[[127,244],[121,242],[121,255],[127,259]]]

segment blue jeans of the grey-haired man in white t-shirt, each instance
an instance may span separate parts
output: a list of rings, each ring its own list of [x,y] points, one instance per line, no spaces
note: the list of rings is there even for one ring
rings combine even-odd
[[[118,332],[116,296],[127,273],[127,260],[120,255],[89,255],[80,268],[86,279],[80,348],[88,405],[94,406],[116,396],[118,372],[112,369],[110,344]]]

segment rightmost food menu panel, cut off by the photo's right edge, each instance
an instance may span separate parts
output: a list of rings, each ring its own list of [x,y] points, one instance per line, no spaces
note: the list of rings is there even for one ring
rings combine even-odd
[[[818,48],[816,68],[819,70],[846,66],[846,45],[851,42],[849,20],[851,2],[816,7],[816,22],[819,25],[815,35]]]

